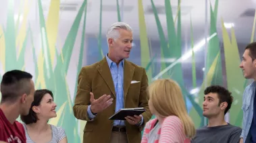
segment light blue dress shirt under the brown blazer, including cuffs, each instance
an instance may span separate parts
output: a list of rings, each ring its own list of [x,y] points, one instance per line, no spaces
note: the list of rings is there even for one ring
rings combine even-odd
[[[115,112],[124,108],[124,60],[122,60],[119,66],[110,60],[106,55],[107,64],[109,65],[110,73],[113,79],[113,85],[116,91],[116,109]],[[95,115],[91,112],[91,105],[87,109],[88,116],[90,119],[95,118]],[[143,124],[143,117],[141,119],[140,126]],[[114,120],[113,126],[125,126],[124,121]]]

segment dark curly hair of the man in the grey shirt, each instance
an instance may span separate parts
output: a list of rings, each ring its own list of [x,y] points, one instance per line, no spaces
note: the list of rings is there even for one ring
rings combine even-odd
[[[219,105],[220,105],[220,103],[223,103],[223,102],[228,103],[228,106],[226,107],[226,109],[224,111],[224,115],[226,115],[226,113],[230,109],[232,102],[233,102],[233,97],[232,97],[230,91],[228,91],[228,89],[225,89],[224,87],[219,86],[219,85],[211,85],[205,89],[204,93],[205,93],[205,95],[207,95],[209,93],[217,93],[217,96],[220,99]]]

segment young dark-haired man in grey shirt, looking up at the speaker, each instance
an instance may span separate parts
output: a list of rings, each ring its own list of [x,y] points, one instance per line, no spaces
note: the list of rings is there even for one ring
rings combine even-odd
[[[203,116],[208,125],[197,130],[191,143],[236,143],[240,140],[242,129],[225,121],[224,116],[233,101],[231,93],[224,87],[212,85],[204,91]]]

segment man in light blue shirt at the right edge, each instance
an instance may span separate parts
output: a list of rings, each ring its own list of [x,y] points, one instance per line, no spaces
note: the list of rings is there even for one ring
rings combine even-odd
[[[242,54],[240,68],[245,79],[253,79],[242,96],[242,134],[240,143],[256,143],[256,42],[249,44]]]

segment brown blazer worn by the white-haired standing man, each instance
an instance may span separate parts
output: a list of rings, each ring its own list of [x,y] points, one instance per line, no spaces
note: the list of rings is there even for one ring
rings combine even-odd
[[[140,81],[130,84],[131,81]],[[144,107],[147,111],[143,113],[144,124],[141,127],[126,124],[126,132],[129,143],[140,143],[141,131],[151,118],[149,111],[149,95],[147,92],[148,79],[145,68],[137,66],[128,60],[124,60],[124,107]],[[90,92],[93,92],[95,99],[104,94],[113,97],[113,103],[97,113],[94,120],[89,120],[87,107],[90,105]],[[84,66],[78,75],[78,91],[74,102],[74,116],[78,120],[86,120],[84,127],[83,143],[109,143],[113,120],[108,118],[115,113],[116,92],[113,80],[107,64],[107,59]]]

